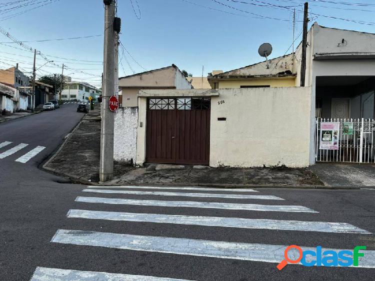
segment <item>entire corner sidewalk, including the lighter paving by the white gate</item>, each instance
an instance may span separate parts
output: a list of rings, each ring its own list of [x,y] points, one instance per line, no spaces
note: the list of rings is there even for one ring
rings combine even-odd
[[[43,165],[75,182],[99,181],[100,109],[86,114]],[[210,168],[193,165],[150,164],[135,168],[114,162],[113,180],[106,185],[210,185],[299,188],[359,188],[375,186],[375,166],[315,164],[308,168]]]

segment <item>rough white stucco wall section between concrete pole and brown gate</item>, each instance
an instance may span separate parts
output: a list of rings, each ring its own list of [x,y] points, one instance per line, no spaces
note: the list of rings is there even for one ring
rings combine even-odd
[[[119,107],[114,115],[113,158],[116,161],[135,162],[137,107]]]

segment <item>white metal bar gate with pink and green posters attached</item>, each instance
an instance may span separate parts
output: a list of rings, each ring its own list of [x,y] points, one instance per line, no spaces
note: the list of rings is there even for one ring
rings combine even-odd
[[[338,149],[319,149],[320,124],[339,122]],[[352,134],[343,132],[345,122],[352,123]],[[317,118],[315,130],[316,162],[375,163],[374,140],[375,122],[373,119]]]

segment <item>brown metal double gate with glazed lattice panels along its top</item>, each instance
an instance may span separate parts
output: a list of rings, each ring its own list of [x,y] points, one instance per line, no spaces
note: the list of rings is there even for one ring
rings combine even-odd
[[[148,98],[146,161],[209,164],[210,98]]]

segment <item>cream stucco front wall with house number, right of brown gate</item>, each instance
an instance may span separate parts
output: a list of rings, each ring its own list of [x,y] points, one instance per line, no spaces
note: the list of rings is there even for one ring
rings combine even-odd
[[[210,166],[308,166],[310,98],[310,87],[219,89],[211,98]]]

